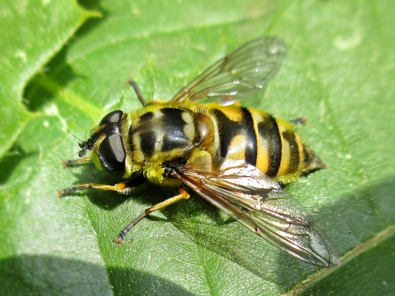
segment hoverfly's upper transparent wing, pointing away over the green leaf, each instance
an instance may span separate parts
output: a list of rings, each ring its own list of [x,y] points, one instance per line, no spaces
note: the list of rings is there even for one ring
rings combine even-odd
[[[276,75],[285,52],[285,43],[275,37],[245,43],[188,83],[172,101],[244,98]]]

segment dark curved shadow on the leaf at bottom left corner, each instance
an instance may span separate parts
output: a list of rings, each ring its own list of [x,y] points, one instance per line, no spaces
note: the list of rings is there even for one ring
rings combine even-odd
[[[1,295],[192,295],[148,272],[54,256],[2,259],[0,273]]]

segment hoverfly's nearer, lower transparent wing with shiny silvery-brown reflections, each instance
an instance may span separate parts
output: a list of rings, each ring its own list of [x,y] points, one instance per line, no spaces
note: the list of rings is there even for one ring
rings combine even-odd
[[[216,172],[208,172],[207,167],[186,164],[175,177],[288,254],[323,267],[340,263],[325,234],[276,181],[244,160],[221,160]]]

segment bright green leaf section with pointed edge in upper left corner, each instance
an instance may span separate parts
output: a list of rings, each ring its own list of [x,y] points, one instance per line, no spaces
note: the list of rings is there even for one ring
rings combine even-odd
[[[2,1],[0,4],[0,98],[3,119],[0,155],[10,148],[32,118],[22,92],[34,74],[64,46],[94,13],[71,1]]]

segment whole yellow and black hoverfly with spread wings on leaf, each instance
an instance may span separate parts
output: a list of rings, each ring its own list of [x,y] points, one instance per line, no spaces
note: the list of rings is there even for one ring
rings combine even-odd
[[[81,158],[63,162],[93,161],[121,182],[82,184],[59,190],[59,196],[87,188],[127,194],[134,180],[144,178],[179,194],[130,222],[113,241],[117,245],[150,213],[188,199],[188,189],[298,259],[324,267],[339,264],[324,233],[281,188],[302,172],[325,167],[294,130],[302,120],[285,121],[237,102],[273,78],[285,52],[276,37],[250,41],[164,103],[147,104],[129,81],[143,108],[104,116],[90,138],[79,143]]]

